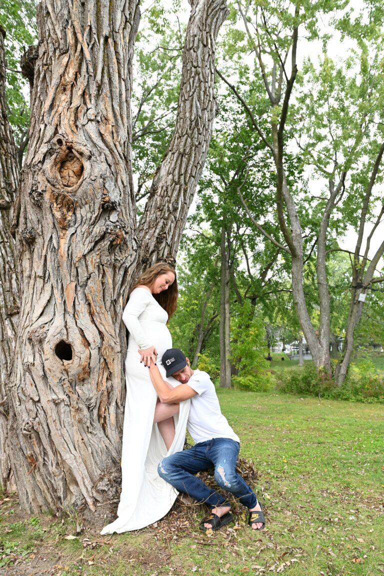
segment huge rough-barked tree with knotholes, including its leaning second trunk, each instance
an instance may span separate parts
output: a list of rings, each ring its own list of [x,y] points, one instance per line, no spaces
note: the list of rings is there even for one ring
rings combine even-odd
[[[176,254],[214,119],[214,105],[211,114],[199,107],[214,103],[214,77],[204,66],[213,69],[225,0],[196,0],[192,14],[186,46],[192,37],[196,54],[205,56],[200,67],[191,64],[188,79],[183,70],[184,104],[191,98],[197,112],[193,125],[184,119],[185,129],[178,120],[170,146],[183,168],[177,172],[181,183],[174,179],[171,187],[172,162],[159,170],[138,234],[130,112],[138,0],[39,4],[32,123],[15,222],[22,314],[9,420],[25,510],[67,504],[94,509],[119,490],[114,480],[120,474],[126,351],[121,314],[143,264]],[[187,84],[195,89],[188,92]],[[203,94],[211,96],[200,101]],[[180,96],[181,108],[183,102]],[[199,161],[187,162],[182,151]],[[164,213],[154,208],[158,195]]]

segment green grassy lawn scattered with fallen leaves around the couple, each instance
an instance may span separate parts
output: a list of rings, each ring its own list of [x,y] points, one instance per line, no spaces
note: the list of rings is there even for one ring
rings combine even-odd
[[[241,456],[259,472],[263,532],[244,514],[207,536],[196,526],[203,511],[189,505],[186,522],[171,513],[157,526],[101,537],[100,514],[25,517],[14,498],[3,499],[0,574],[384,574],[382,405],[231,390],[219,398]]]

